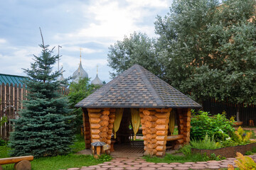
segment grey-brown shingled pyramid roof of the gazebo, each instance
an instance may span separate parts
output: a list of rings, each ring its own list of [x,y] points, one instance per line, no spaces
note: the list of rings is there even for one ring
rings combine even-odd
[[[77,103],[82,108],[201,108],[188,96],[134,64]]]

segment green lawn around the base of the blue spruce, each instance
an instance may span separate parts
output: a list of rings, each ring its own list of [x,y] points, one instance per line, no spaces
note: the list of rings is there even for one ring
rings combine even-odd
[[[68,155],[59,155],[57,157],[41,157],[34,159],[31,162],[33,170],[55,170],[55,169],[68,169],[81,166],[90,166],[95,164],[101,164],[103,161],[100,159],[94,159],[91,155],[76,155],[82,149],[85,149],[85,143],[83,137],[76,136],[76,141],[71,146],[73,152]],[[7,146],[0,147],[0,158],[9,157]],[[14,164],[3,165],[5,170],[13,170]]]

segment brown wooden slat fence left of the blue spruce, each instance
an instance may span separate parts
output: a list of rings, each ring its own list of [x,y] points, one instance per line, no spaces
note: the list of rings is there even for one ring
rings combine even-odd
[[[0,126],[0,137],[7,139],[9,132],[13,131],[11,119],[18,118],[18,112],[23,108],[22,102],[26,100],[26,85],[23,84],[0,84],[0,119],[7,119]]]

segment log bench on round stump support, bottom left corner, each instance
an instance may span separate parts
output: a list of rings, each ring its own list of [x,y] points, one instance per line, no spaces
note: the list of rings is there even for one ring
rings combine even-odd
[[[1,165],[3,164],[14,164],[14,169],[16,170],[31,170],[31,162],[33,161],[33,156],[23,156],[23,157],[9,157],[0,159],[0,170],[3,170]]]

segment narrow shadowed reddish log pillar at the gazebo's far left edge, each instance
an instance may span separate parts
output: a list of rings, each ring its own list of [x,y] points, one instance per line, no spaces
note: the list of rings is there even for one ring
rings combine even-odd
[[[90,149],[91,138],[90,138],[90,122],[89,115],[85,108],[82,108],[82,122],[83,122],[83,134],[85,137],[85,148]]]

